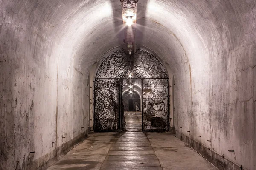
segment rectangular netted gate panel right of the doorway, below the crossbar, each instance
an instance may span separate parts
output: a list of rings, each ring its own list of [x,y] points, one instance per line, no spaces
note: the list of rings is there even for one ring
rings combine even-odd
[[[143,131],[169,130],[169,80],[142,80]]]

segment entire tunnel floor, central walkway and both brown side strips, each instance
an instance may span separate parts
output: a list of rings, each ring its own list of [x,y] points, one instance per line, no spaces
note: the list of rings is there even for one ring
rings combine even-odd
[[[47,170],[216,170],[171,133],[141,132],[140,113],[125,113],[127,132],[91,133]]]

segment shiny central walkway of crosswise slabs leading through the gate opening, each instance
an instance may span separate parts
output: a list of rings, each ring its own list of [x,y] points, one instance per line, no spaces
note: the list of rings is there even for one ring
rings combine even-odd
[[[141,124],[135,114],[125,114],[125,118],[129,119],[128,127],[138,127],[137,131],[140,131]],[[102,164],[101,170],[104,170],[105,167],[117,167],[118,169],[127,167],[126,170],[132,170],[134,167],[146,167],[147,170],[150,170],[151,167],[157,167],[157,170],[162,169],[143,132],[125,132],[118,136]]]

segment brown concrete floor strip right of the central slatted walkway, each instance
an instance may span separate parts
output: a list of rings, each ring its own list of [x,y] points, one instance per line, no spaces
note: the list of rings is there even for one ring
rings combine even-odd
[[[218,170],[172,133],[145,133],[163,170]]]

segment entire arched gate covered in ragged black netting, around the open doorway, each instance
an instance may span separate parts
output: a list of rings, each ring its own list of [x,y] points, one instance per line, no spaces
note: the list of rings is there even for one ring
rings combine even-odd
[[[140,90],[135,87],[140,80]],[[137,85],[138,86],[138,85]],[[137,49],[119,50],[99,66],[94,82],[94,130],[125,130],[123,91],[140,91],[143,131],[169,130],[169,79],[161,62]]]

